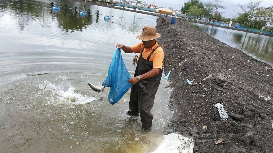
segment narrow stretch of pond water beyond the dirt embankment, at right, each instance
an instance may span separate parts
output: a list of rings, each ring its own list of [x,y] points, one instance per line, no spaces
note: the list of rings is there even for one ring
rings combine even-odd
[[[191,25],[211,37],[273,66],[273,37],[198,23],[191,23]]]

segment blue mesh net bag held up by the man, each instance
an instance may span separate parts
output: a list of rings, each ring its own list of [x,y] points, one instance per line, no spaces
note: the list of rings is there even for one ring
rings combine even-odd
[[[102,83],[105,87],[110,87],[108,101],[112,105],[117,103],[121,97],[131,88],[128,82],[131,76],[123,62],[120,48],[117,47],[112,62],[109,66],[108,75]]]

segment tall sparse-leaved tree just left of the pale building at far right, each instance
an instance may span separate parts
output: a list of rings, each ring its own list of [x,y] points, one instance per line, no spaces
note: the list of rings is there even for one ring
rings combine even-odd
[[[246,6],[244,6],[243,4],[239,3],[239,7],[241,8],[241,10],[247,14],[249,14],[248,16],[248,25],[247,25],[247,29],[249,30],[250,26],[251,26],[251,21],[253,20],[253,18],[259,16],[259,10],[262,8],[260,7],[260,4],[263,1],[257,1],[257,0],[249,0],[248,4]]]

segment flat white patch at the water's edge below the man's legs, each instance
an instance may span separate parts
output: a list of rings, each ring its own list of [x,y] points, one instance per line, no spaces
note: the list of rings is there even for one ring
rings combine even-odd
[[[163,142],[152,153],[192,153],[194,141],[180,135],[178,133],[171,133],[165,135]]]

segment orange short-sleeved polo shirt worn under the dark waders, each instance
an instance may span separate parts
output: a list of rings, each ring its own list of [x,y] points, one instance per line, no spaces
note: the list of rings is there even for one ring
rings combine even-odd
[[[156,41],[156,44],[154,46],[152,46],[152,48],[148,49],[145,47],[142,53],[142,57],[144,59],[147,59],[148,56],[151,54],[151,52],[154,50],[154,48],[156,48],[156,46],[158,46],[158,43]],[[140,53],[143,49],[144,45],[143,42],[139,42],[138,44],[131,46],[131,50],[134,53]],[[154,53],[151,55],[149,61],[154,62],[153,66],[154,68],[160,68],[162,69],[162,63],[164,61],[164,52],[163,49],[161,47],[156,48],[156,50],[154,51]]]

